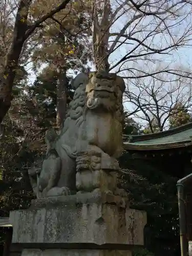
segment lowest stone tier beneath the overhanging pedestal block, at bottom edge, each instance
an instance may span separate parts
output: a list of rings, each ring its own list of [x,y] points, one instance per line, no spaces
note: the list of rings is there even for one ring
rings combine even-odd
[[[91,250],[91,249],[24,249],[22,256],[131,256],[131,251],[125,250]]]

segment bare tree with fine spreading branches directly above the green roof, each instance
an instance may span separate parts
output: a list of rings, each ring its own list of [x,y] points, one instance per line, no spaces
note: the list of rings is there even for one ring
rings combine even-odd
[[[144,120],[152,133],[166,129],[167,121],[181,111],[181,106],[182,111],[192,113],[191,79],[178,76],[174,81],[164,82],[165,74],[159,76],[161,79],[136,78],[125,92],[136,110],[132,116]]]

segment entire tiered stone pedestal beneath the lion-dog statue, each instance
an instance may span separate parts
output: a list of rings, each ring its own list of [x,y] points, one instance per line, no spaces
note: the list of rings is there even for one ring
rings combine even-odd
[[[22,256],[131,256],[143,245],[146,214],[119,196],[86,193],[34,200],[10,221]]]

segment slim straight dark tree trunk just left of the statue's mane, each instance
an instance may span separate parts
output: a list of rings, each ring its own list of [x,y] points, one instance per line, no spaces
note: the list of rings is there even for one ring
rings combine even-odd
[[[67,83],[66,70],[62,70],[59,72],[57,80],[57,128],[59,133],[66,119]]]

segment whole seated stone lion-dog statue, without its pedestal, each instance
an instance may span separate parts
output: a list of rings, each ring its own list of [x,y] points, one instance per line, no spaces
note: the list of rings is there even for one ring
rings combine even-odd
[[[121,77],[113,73],[79,74],[60,135],[46,134],[47,155],[29,176],[40,197],[104,191],[117,193],[116,160],[122,153]]]

